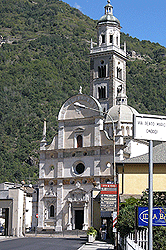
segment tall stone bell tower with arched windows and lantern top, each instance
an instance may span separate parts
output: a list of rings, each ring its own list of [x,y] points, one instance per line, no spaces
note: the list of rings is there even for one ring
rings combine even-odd
[[[91,41],[90,49],[90,93],[105,112],[117,104],[119,93],[126,96],[126,44],[121,49],[120,22],[107,2],[105,15],[97,23],[97,46]]]

